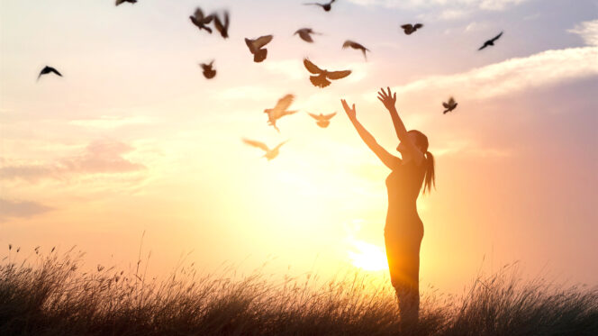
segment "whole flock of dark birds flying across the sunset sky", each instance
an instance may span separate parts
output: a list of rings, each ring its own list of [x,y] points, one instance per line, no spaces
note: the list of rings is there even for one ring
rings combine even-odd
[[[138,0],[116,0],[115,5],[122,5],[123,3],[130,3],[136,4]],[[332,9],[332,4],[334,4],[336,0],[331,0],[329,3],[320,4],[320,3],[305,3],[304,5],[316,5],[322,7],[325,12],[330,12]],[[195,13],[189,16],[189,20],[191,23],[197,27],[197,29],[202,32],[205,31],[207,33],[212,34],[213,30],[220,33],[223,39],[227,39],[229,37],[229,27],[230,27],[230,14],[228,11],[224,11],[221,14],[213,13],[213,14],[204,14],[201,8],[197,7],[195,9]],[[209,25],[213,24],[213,28]],[[423,28],[422,23],[407,23],[401,25],[401,29],[406,35],[411,35],[413,32],[417,32]],[[294,35],[299,35],[303,41],[308,43],[313,43],[312,35],[322,34],[320,32],[314,32],[312,28],[301,28],[294,32]],[[494,46],[494,42],[503,36],[503,32],[500,32],[494,38],[485,41],[484,44],[478,50],[484,50],[487,47]],[[253,61],[256,63],[260,63],[267,58],[267,44],[274,39],[273,35],[264,35],[260,36],[256,39],[245,39],[245,43],[249,48],[249,52],[253,55]],[[360,50],[363,53],[364,59],[367,59],[367,52],[370,52],[362,44],[356,41],[347,40],[342,44],[342,49],[354,49]],[[203,70],[204,77],[207,79],[212,79],[216,77],[216,69],[214,68],[214,60],[210,61],[209,63],[200,63],[199,66]],[[322,69],[315,64],[310,59],[304,59],[304,67],[310,73],[310,81],[312,82],[313,86],[316,87],[326,87],[331,85],[331,80],[338,80],[344,77],[348,77],[351,74],[351,70],[335,70],[331,71],[328,69]],[[62,77],[62,74],[56,69],[50,66],[46,66],[41,69],[40,75],[38,76],[38,80],[42,75],[48,75],[53,73],[59,77]],[[264,113],[267,114],[267,124],[274,127],[277,132],[280,132],[278,127],[276,126],[276,121],[280,118],[284,117],[285,115],[295,114],[297,113],[296,110],[289,111],[288,108],[293,104],[294,95],[285,95],[278,100],[276,105],[273,108],[264,110]],[[455,108],[457,108],[458,103],[455,101],[455,98],[452,96],[449,97],[447,102],[443,102],[442,106],[445,108],[443,114],[447,114]],[[336,113],[332,114],[310,114],[310,116],[315,119],[316,124],[322,128],[328,127],[331,123],[331,118],[336,115]],[[275,148],[270,149],[265,143],[261,141],[253,141],[249,139],[242,139],[242,141],[249,146],[256,147],[258,149],[264,150],[266,153],[264,157],[268,160],[275,159],[278,156],[280,147],[283,146],[287,141],[283,141],[279,143]]]

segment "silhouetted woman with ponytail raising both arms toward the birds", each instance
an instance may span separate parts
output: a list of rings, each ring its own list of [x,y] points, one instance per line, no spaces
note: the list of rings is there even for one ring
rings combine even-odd
[[[349,120],[367,147],[376,153],[392,172],[386,177],[388,190],[388,212],[386,213],[385,245],[391,282],[399,300],[401,321],[417,322],[420,310],[420,246],[423,238],[423,223],[417,213],[416,201],[420,194],[430,191],[434,184],[434,158],[428,151],[428,138],[419,131],[405,129],[394,107],[396,94],[380,89],[378,99],[385,104],[399,137],[401,159],[380,146],[372,134],[358,122],[355,104],[350,108],[341,103]]]

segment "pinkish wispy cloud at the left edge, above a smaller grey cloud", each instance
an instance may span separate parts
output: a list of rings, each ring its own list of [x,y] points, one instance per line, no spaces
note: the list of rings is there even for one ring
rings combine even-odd
[[[145,166],[122,157],[132,150],[120,141],[94,141],[80,154],[53,163],[6,165],[7,160],[3,159],[0,178],[37,182],[45,178],[64,179],[73,175],[119,174],[145,169]]]

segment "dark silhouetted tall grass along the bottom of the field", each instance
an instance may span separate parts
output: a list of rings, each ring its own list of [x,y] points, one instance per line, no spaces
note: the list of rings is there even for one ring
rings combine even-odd
[[[0,265],[2,335],[598,334],[598,288],[521,283],[510,268],[460,297],[424,291],[421,321],[400,331],[392,288],[359,273],[326,283],[260,271],[233,280],[191,266],[159,281],[140,275],[140,262],[134,272],[81,272],[80,252],[35,251],[17,263],[9,250]]]

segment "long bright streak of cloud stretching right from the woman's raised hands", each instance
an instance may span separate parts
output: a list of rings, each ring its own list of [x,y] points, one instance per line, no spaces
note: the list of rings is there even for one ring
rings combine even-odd
[[[397,95],[446,92],[468,100],[507,95],[538,86],[598,75],[598,48],[546,50],[447,76],[432,76],[396,86]],[[370,95],[370,94],[368,94]]]

